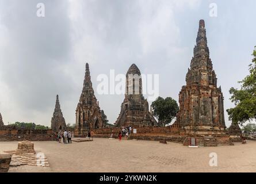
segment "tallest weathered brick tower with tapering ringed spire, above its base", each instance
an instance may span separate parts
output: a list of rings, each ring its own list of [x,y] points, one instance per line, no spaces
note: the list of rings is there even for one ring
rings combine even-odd
[[[217,87],[217,78],[209,57],[204,20],[199,21],[194,56],[186,74],[186,86],[179,93],[179,113],[174,126],[186,133],[208,135],[223,132],[223,94]],[[219,133],[220,133],[219,132]]]

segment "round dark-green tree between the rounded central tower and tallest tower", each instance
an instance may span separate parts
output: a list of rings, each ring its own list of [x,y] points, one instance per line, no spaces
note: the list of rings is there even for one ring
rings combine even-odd
[[[165,99],[158,97],[152,102],[152,109],[154,116],[158,118],[158,125],[163,127],[176,117],[179,106],[175,99],[171,97]]]

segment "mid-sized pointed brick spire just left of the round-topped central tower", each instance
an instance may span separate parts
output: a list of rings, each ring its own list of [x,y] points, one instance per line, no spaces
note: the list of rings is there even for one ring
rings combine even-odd
[[[101,109],[97,98],[94,95],[88,63],[86,63],[83,90],[77,105],[75,116],[76,135],[86,136],[86,133],[90,131],[90,129],[104,127],[101,117]]]

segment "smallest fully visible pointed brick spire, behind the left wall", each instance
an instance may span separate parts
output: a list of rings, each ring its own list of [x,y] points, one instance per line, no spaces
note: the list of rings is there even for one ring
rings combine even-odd
[[[54,109],[54,114],[51,120],[51,128],[54,132],[64,131],[66,127],[66,122],[60,109],[59,95],[56,97],[56,104]]]

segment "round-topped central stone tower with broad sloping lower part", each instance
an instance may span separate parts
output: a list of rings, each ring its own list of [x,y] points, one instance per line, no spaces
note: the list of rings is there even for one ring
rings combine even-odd
[[[142,78],[139,68],[132,64],[126,74],[125,98],[115,125],[154,126],[157,122],[148,111],[147,99],[142,94]]]

